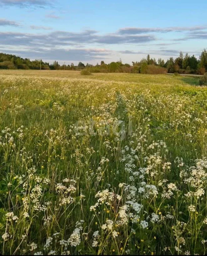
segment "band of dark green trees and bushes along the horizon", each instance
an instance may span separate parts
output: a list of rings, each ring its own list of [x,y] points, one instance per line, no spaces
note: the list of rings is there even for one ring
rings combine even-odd
[[[98,72],[122,72],[122,73],[182,73],[182,74],[201,74],[207,72],[207,52],[204,49],[197,59],[194,55],[190,56],[188,53],[183,55],[180,52],[179,57],[173,59],[169,58],[167,61],[159,58],[157,61],[150,58],[150,55],[143,58],[141,61],[132,61],[132,65],[123,64],[121,59],[109,64],[101,61],[100,64],[86,65],[79,62],[78,65],[71,63],[70,65],[60,65],[58,61],[52,64],[43,62],[42,60],[30,60],[28,58],[21,58],[16,55],[0,53],[0,69],[43,69],[43,70],[82,70],[87,69],[92,73]]]

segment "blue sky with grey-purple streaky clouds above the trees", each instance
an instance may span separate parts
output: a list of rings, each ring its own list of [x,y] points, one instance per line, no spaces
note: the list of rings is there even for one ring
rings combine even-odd
[[[199,57],[206,0],[0,0],[0,52],[75,65]]]

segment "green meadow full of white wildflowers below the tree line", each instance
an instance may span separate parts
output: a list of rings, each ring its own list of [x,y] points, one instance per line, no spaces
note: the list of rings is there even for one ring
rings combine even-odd
[[[198,78],[0,70],[1,254],[205,254]]]

